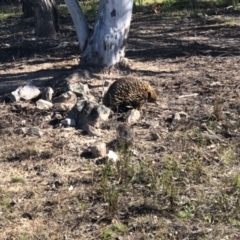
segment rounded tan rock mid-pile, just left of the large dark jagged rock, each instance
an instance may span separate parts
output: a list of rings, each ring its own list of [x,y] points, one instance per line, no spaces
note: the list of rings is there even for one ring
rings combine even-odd
[[[77,96],[71,92],[65,92],[52,100],[54,107],[61,110],[70,110],[77,102]]]

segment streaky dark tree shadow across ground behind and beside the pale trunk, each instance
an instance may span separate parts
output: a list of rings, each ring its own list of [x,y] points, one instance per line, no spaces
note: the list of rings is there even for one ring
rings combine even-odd
[[[229,15],[233,25],[229,24]],[[236,21],[233,12],[221,17],[134,14],[126,57],[154,62],[196,55],[239,56],[240,27]],[[70,18],[61,20],[61,34],[56,40],[36,39],[33,19],[21,17],[3,21],[0,33],[0,94],[29,80],[41,85],[78,68],[73,59],[78,58],[79,49]],[[61,47],[62,43],[66,44]]]

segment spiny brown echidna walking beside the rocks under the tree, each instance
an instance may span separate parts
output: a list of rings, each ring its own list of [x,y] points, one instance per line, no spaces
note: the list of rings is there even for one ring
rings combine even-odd
[[[148,82],[135,78],[116,80],[103,97],[103,104],[115,112],[141,109],[145,102],[156,102],[157,94]]]

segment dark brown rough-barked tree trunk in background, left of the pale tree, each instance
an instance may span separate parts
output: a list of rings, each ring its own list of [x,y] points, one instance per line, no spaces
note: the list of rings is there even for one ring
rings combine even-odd
[[[59,32],[58,11],[55,0],[30,0],[34,8],[35,34],[55,37]]]

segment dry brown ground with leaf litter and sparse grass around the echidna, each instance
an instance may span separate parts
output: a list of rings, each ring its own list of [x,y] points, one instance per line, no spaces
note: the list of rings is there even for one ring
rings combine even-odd
[[[97,99],[106,79],[129,75],[158,92],[132,126],[131,151],[112,148],[114,120],[90,137],[50,125],[34,104],[1,103],[0,239],[240,239],[239,16],[133,15],[129,67],[86,81]],[[78,68],[71,19],[60,24],[57,40],[39,40],[33,19],[1,22],[1,94]],[[93,159],[94,142],[119,163]]]

